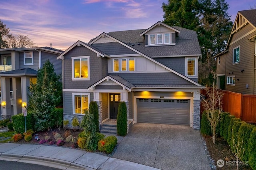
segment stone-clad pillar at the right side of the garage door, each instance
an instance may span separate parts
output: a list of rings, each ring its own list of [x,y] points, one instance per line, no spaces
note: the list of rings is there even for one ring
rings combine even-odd
[[[193,93],[193,129],[200,129],[200,89]]]

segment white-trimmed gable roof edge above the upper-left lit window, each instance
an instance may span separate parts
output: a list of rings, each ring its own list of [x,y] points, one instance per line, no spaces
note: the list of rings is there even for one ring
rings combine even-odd
[[[107,55],[106,53],[100,51],[99,49],[93,47],[92,45],[88,44],[88,43],[84,43],[80,40],[78,40],[76,43],[74,43],[73,45],[71,45],[68,49],[66,49],[66,51],[64,51],[64,53],[62,53],[61,55],[59,55],[57,57],[57,59],[63,59],[63,56],[68,53],[68,51],[70,51],[71,49],[73,49],[75,46],[81,46],[83,45],[84,47],[94,51],[95,53],[97,53],[97,56],[102,56],[102,57],[109,57],[109,55]]]

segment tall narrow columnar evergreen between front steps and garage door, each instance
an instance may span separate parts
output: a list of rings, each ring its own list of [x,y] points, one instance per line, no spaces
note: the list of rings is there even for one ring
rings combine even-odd
[[[117,134],[119,136],[125,136],[127,133],[127,108],[124,101],[119,103],[117,114]]]

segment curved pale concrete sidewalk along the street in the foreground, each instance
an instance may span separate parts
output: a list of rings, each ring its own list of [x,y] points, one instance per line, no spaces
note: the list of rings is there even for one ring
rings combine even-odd
[[[28,158],[33,160],[34,164],[36,161],[44,160],[87,170],[156,170],[150,166],[83,150],[35,144],[0,143],[0,159],[6,157]]]

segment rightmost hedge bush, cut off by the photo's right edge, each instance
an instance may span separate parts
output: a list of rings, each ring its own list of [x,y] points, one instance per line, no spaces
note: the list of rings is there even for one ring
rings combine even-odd
[[[250,134],[248,152],[249,152],[249,165],[252,169],[256,169],[256,127],[253,128]]]

